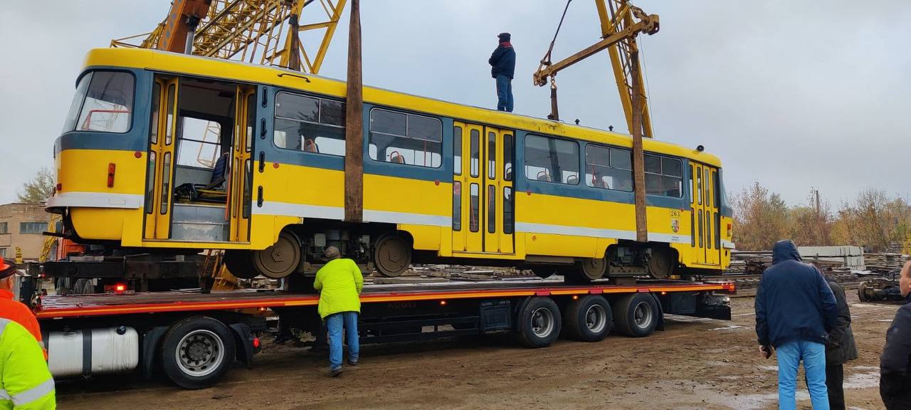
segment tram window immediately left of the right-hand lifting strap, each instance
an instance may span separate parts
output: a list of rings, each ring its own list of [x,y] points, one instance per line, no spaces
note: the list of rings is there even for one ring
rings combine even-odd
[[[630,151],[597,145],[585,148],[585,184],[602,190],[632,191]]]

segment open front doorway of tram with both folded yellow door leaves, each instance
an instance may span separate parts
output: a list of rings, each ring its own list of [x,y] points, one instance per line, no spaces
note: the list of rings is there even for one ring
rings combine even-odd
[[[156,77],[144,238],[250,241],[255,88]]]

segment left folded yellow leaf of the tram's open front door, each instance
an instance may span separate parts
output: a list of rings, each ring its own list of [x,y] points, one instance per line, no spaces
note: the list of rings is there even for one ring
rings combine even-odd
[[[145,239],[165,240],[170,236],[174,184],[174,148],[177,145],[178,78],[156,78],[152,86],[148,136]]]

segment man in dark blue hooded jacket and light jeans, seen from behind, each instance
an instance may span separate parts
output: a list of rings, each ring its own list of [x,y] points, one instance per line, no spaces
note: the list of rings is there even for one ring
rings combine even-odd
[[[838,324],[838,304],[823,274],[801,261],[793,241],[777,241],[772,266],[756,290],[756,336],[763,353],[777,350],[778,407],[796,407],[797,366],[804,362],[814,409],[828,409],[825,342]]]

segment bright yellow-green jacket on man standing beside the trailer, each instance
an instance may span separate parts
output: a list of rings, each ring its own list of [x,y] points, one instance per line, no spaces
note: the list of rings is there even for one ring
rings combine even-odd
[[[347,258],[329,261],[316,272],[313,288],[320,291],[320,317],[333,313],[361,312],[363,273]]]

